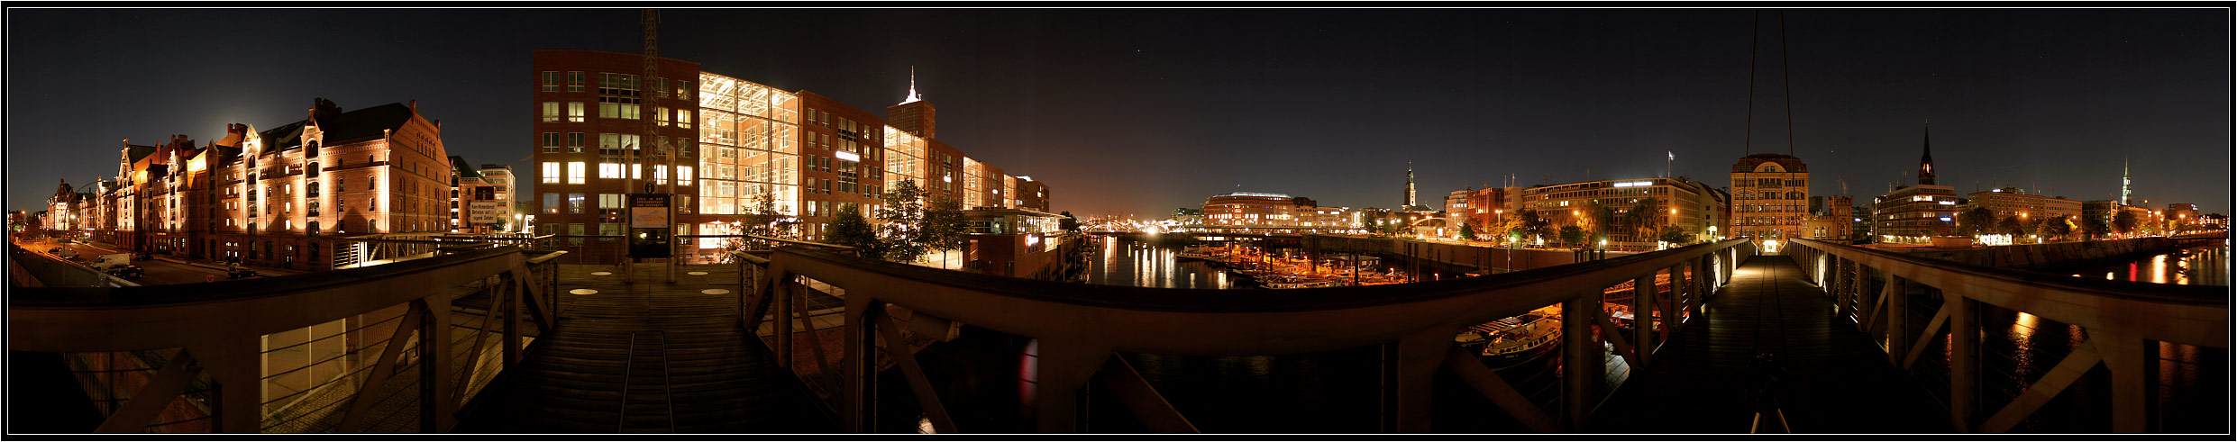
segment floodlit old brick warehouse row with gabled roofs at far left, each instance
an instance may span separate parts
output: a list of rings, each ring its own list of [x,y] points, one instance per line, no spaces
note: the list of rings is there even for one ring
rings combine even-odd
[[[125,250],[329,270],[358,259],[342,237],[447,230],[450,190],[441,121],[418,103],[342,112],[318,98],[304,121],[235,123],[208,145],[125,143],[114,183],[76,217]]]

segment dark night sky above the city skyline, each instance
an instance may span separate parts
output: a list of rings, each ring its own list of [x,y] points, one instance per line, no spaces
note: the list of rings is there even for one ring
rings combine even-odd
[[[940,138],[1054,210],[1163,217],[1235,190],[1394,208],[1463,185],[1676,170],[1747,134],[1749,9],[667,9],[660,54],[868,112],[908,69]],[[1812,194],[1910,183],[1919,123],[1960,194],[2230,201],[2228,9],[1792,9]],[[1763,11],[1752,152],[1787,152]],[[121,138],[219,138],[421,100],[445,145],[532,172],[532,49],[640,51],[638,9],[9,9],[7,208],[114,174]]]

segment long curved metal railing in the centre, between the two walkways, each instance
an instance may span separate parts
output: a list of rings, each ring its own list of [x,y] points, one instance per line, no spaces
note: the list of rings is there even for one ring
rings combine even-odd
[[[1080,426],[1078,397],[1087,382],[1103,382],[1150,431],[1195,433],[1186,415],[1143,382],[1116,353],[1159,355],[1300,355],[1360,346],[1382,348],[1382,431],[1427,433],[1432,375],[1445,368],[1532,431],[1582,429],[1593,406],[1613,391],[1604,386],[1602,350],[1633,368],[1653,364],[1653,348],[1698,317],[1707,292],[1729,281],[1734,266],[1754,254],[1740,239],[1698,243],[1662,252],[1613,257],[1575,266],[1443,279],[1400,286],[1300,288],[1300,290],[1186,290],[1085,286],[951,272],[906,263],[870,261],[819,248],[774,248],[767,259],[740,254],[740,310],[754,330],[761,310],[776,308],[778,366],[794,373],[825,373],[825,350],[839,353],[841,386],[837,413],[846,431],[875,431],[868,388],[881,366],[897,366],[910,395],[935,433],[953,433],[955,420],[937,388],[910,353],[899,350],[908,330],[926,324],[971,324],[1027,337],[1025,366],[1033,388],[1020,409],[1029,431],[1072,433]],[[1658,288],[1658,279],[1669,281]],[[843,292],[843,346],[810,344],[814,362],[794,362],[792,337],[808,324],[805,281]],[[1611,286],[1633,284],[1631,308],[1640,326],[1617,330],[1602,304]],[[1454,344],[1463,328],[1503,317],[1561,306],[1561,406],[1546,411]],[[906,315],[906,317],[904,317]],[[913,321],[899,326],[902,319]],[[1342,326],[1331,326],[1342,324]],[[1649,326],[1651,324],[1651,326]],[[1597,333],[1611,330],[1611,333]],[[1629,337],[1626,337],[1629,335]],[[890,350],[888,350],[890,348]],[[1646,348],[1646,350],[1635,350]],[[810,368],[814,364],[814,368]],[[1559,420],[1566,417],[1566,420]]]

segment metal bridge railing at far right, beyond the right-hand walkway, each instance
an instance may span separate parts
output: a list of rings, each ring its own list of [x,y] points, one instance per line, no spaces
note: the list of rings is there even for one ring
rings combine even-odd
[[[2145,402],[2159,395],[2145,373],[2159,342],[2228,348],[2228,288],[2103,281],[1922,259],[1870,248],[1796,239],[1785,248],[1834,310],[1884,342],[1888,362],[1915,371],[1937,339],[1948,353],[1948,415],[1960,431],[2004,433],[2098,364],[2109,371],[2112,431],[2148,431]],[[1924,328],[1906,324],[1910,308],[1933,308]],[[1982,413],[1984,308],[2007,308],[2087,335],[2074,353],[2002,409]],[[1948,330],[1948,333],[1946,333]],[[1951,337],[1971,339],[1951,339]]]

